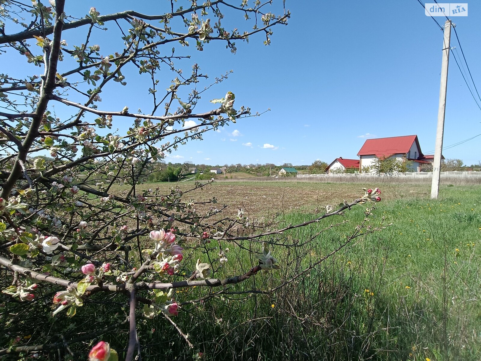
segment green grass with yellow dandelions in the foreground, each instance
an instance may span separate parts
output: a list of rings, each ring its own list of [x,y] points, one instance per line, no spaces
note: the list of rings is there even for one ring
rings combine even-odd
[[[306,187],[304,183],[299,186]],[[193,354],[203,352],[203,360],[478,361],[481,186],[445,186],[437,201],[414,198],[409,194],[418,193],[401,189],[397,193],[396,198],[377,204],[368,217],[372,227],[391,226],[356,238],[276,292],[254,293],[251,291],[278,286],[345,242],[364,219],[365,206],[353,207],[342,218],[329,218],[266,238],[278,244],[300,245],[331,223],[347,220],[305,245],[275,245],[273,254],[281,266],[279,271],[259,273],[227,287],[226,294],[185,305],[175,322],[189,334],[193,350],[165,318],[146,320],[139,312],[142,358],[191,360]],[[314,208],[306,206],[302,211],[286,213],[278,219],[280,225],[316,218],[319,214],[314,213]],[[244,241],[241,245],[260,250],[258,243]],[[222,246],[229,247],[229,261],[219,268],[218,245],[207,245],[212,249],[209,254],[214,277],[241,274],[256,264],[253,253],[232,244]],[[186,252],[179,279],[185,277],[183,272],[189,274],[197,258],[208,261],[201,249]],[[219,289],[179,289],[177,302],[209,296],[212,291]],[[118,295],[104,302],[103,297],[90,297],[86,307],[78,309],[72,319],[64,315],[56,319],[44,317],[50,304],[30,305],[24,312],[36,312],[38,323],[27,324],[20,317],[15,321],[17,329],[28,326],[32,342],[45,333],[56,340],[52,335],[61,330],[68,340],[75,338],[79,330],[89,332],[90,326],[86,325],[101,329],[123,320],[128,312],[126,298]],[[9,307],[13,314],[15,305]],[[24,337],[25,332],[10,337]],[[101,338],[122,355],[128,324]],[[77,343],[70,348],[85,358],[89,346]],[[50,355],[57,357],[56,351]]]

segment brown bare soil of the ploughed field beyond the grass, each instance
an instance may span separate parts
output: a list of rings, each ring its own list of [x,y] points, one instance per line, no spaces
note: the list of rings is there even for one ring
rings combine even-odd
[[[159,187],[169,193],[172,187],[187,191],[193,187],[188,183],[147,183],[139,188]],[[363,187],[375,188],[376,184],[340,184],[307,182],[214,182],[203,189],[189,192],[186,200],[203,202],[215,197],[220,207],[227,205],[225,215],[237,214],[243,208],[250,216],[259,217],[292,210],[321,209],[326,205],[336,206],[343,200],[352,201],[364,194]],[[384,200],[417,198],[429,195],[430,188],[424,184],[382,184]]]

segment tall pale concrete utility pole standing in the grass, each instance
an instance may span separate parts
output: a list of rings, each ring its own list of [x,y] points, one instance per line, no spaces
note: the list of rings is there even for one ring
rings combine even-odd
[[[436,129],[436,144],[432,162],[431,198],[439,194],[441,178],[441,155],[443,152],[444,114],[446,113],[446,90],[448,84],[449,43],[451,40],[451,20],[444,23],[443,64],[441,65],[441,87],[439,89],[438,128]]]

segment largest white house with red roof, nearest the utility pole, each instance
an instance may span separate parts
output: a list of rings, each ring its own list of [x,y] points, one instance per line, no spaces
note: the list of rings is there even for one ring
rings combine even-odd
[[[423,164],[432,163],[434,159],[434,155],[422,154],[417,135],[367,139],[357,155],[361,170],[373,165],[377,158],[396,158],[403,162],[412,161],[409,167],[412,171],[419,172]]]

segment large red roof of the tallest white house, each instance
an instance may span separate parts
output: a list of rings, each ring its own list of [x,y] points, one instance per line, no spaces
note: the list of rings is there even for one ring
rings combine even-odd
[[[418,145],[419,155],[421,156],[421,147],[417,135],[367,139],[357,155],[376,155],[378,158],[383,158],[393,154],[406,154],[414,142]]]

